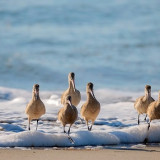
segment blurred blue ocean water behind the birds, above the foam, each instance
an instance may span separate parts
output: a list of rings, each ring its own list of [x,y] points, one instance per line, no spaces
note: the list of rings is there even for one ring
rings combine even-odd
[[[160,89],[159,0],[1,0],[0,86]]]

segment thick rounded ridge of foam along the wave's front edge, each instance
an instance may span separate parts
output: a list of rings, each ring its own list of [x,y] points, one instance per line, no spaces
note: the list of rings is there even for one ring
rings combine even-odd
[[[149,142],[160,142],[160,126],[152,127]],[[146,132],[144,131],[146,130]],[[64,133],[42,133],[39,131],[23,131],[0,136],[0,147],[77,147],[102,146],[116,144],[143,143],[146,138],[146,126],[135,126],[107,133],[106,131],[77,131],[71,134],[74,144],[70,143]]]

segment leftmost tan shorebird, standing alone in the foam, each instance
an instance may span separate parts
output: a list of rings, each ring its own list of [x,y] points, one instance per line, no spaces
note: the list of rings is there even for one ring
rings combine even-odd
[[[39,96],[39,84],[33,85],[32,99],[27,104],[25,113],[28,116],[28,130],[30,130],[30,122],[32,120],[37,120],[37,130],[39,118],[46,113],[45,105]]]

